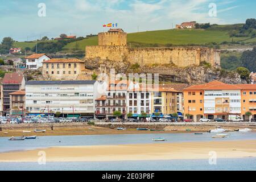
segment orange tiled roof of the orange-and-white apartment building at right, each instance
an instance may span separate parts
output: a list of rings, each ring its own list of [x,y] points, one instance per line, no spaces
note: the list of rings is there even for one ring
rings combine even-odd
[[[183,90],[241,90],[241,89],[256,89],[253,84],[225,84],[221,81],[211,81],[207,84],[192,85]]]

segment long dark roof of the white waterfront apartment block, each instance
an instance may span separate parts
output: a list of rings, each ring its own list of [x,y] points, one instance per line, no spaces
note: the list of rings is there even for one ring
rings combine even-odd
[[[95,82],[95,80],[28,81],[26,85],[90,85]]]

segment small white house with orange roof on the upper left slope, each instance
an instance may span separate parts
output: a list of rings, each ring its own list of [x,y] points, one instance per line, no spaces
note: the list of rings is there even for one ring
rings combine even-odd
[[[43,67],[43,61],[51,59],[45,53],[34,53],[26,58],[26,68],[27,69],[38,69]]]

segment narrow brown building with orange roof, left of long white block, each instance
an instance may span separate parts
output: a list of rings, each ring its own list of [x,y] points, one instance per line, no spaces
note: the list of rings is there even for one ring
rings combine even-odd
[[[10,95],[10,115],[23,115],[25,113],[25,90],[12,92]]]

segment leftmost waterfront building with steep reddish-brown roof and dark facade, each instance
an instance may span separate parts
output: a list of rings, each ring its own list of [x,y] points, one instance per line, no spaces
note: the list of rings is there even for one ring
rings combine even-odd
[[[10,93],[25,89],[25,79],[21,73],[5,73],[1,84],[2,115],[10,114]]]

